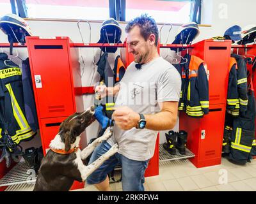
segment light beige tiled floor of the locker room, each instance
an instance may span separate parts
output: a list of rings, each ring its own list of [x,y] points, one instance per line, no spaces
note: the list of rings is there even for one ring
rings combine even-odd
[[[238,166],[222,158],[221,164],[196,168],[188,159],[159,164],[159,175],[145,178],[145,191],[256,191],[256,159]],[[122,184],[111,184],[122,191]],[[88,185],[80,191],[97,191]]]

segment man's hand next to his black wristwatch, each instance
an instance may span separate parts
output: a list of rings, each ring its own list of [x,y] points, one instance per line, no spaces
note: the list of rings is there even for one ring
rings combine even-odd
[[[134,112],[127,106],[120,106],[113,112],[112,119],[115,120],[115,124],[124,130],[128,130],[137,126],[140,120],[139,113]]]

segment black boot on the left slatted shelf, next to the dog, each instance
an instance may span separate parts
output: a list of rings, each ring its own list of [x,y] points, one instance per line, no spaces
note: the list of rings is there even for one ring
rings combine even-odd
[[[38,161],[38,152],[35,147],[26,149],[22,156],[28,164],[28,167],[34,169],[37,172],[40,167],[40,161]]]

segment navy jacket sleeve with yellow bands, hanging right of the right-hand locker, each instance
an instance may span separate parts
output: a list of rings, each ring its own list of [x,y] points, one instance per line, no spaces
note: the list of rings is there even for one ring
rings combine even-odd
[[[232,54],[237,62],[237,91],[239,95],[239,112],[247,110],[248,95],[247,95],[247,68],[243,57],[237,54]]]

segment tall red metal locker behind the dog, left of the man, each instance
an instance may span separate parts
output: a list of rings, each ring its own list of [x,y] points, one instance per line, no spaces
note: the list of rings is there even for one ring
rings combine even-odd
[[[80,65],[77,50],[70,47],[68,37],[45,39],[27,37],[29,64],[35,94],[36,111],[44,154],[63,120],[74,112],[82,112]],[[81,148],[86,136],[81,136]],[[74,182],[72,189],[84,187]]]

